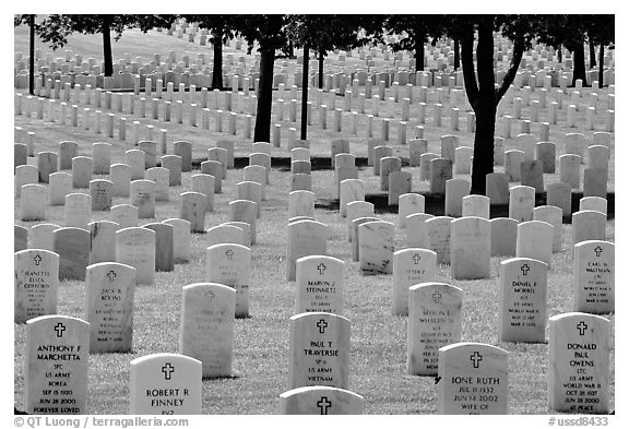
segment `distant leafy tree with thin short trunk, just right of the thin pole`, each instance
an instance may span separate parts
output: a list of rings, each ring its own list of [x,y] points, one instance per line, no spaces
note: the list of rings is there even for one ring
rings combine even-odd
[[[323,87],[323,61],[334,49],[351,50],[369,41],[365,27],[382,28],[378,15],[288,15],[286,32],[296,47],[307,46],[319,60],[319,87]]]

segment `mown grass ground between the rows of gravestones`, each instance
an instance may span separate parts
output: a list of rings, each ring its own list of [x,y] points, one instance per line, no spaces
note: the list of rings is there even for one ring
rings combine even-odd
[[[129,32],[120,43],[114,44],[114,58],[120,58],[116,49],[142,52],[166,53],[170,49],[179,52],[193,49],[189,44],[175,37],[151,32],[134,38]],[[124,45],[129,43],[129,46]],[[17,44],[17,35],[16,35]],[[162,45],[164,44],[164,45]],[[173,44],[170,47],[166,44]],[[133,47],[133,48],[132,48]],[[68,49],[79,49],[69,46]],[[88,50],[90,47],[86,46]],[[210,52],[207,47],[207,52]],[[25,51],[25,49],[22,49]],[[98,56],[97,45],[92,55]],[[197,47],[194,47],[197,51]],[[234,53],[233,49],[229,50]],[[88,55],[90,52],[85,52]],[[245,55],[245,52],[238,52]],[[138,53],[140,55],[140,53]],[[292,67],[294,67],[294,61]],[[434,87],[430,88],[434,97]],[[317,90],[310,88],[310,99]],[[388,88],[388,94],[391,88]],[[588,94],[592,90],[584,88]],[[15,93],[25,93],[16,91]],[[444,94],[446,99],[448,94]],[[328,99],[329,94],[323,95]],[[138,97],[135,97],[138,98]],[[277,95],[274,95],[276,100]],[[343,97],[336,97],[336,104],[343,105]],[[355,108],[356,100],[353,102]],[[396,104],[396,115],[400,106]],[[512,108],[512,106],[508,107]],[[384,110],[384,107],[381,107]],[[359,157],[367,156],[365,118],[361,118],[358,133],[348,132],[349,118],[343,118],[342,132],[333,132],[331,116],[328,130],[318,126],[318,112],[312,109],[312,126],[308,129],[308,139],[313,157],[330,156],[330,141],[347,139],[351,142],[351,153]],[[124,108],[124,111],[128,111]],[[523,117],[527,107],[523,107]],[[545,109],[541,109],[542,117]],[[584,122],[584,112],[578,111],[578,123]],[[298,116],[299,112],[298,112]],[[562,116],[562,117],[561,117]],[[413,114],[412,114],[413,118]],[[149,119],[135,118],[143,123]],[[299,120],[299,119],[298,119]],[[95,134],[94,129],[82,130],[70,126],[60,126],[35,118],[16,116],[16,127],[35,133],[36,153],[43,151],[57,152],[58,143],[70,140],[79,143],[79,155],[91,155],[91,145],[95,142],[112,144],[111,164],[121,162],[126,150],[132,148],[131,134],[128,130],[127,141],[120,141],[118,134],[107,138]],[[444,120],[444,123],[449,121]],[[551,127],[550,141],[563,142],[568,132],[583,132],[570,129],[566,124],[566,110],[559,110],[559,126]],[[603,129],[604,120],[596,118],[595,127]],[[299,122],[275,121],[282,128],[299,129]],[[412,139],[414,131],[410,122],[407,135]],[[462,144],[471,145],[473,133],[450,131],[448,126],[436,127],[427,114],[424,126],[424,138],[428,140],[429,152],[440,153],[439,136],[456,134]],[[532,133],[538,134],[539,123],[532,124]],[[513,124],[514,130],[518,126]],[[190,127],[185,118],[182,124],[161,122],[158,129],[168,131],[168,153],[173,153],[171,143],[178,140],[192,142],[193,158],[204,159],[206,150],[215,146],[222,139],[234,140],[237,157],[249,153],[251,140],[242,139],[241,129],[237,135],[229,136],[225,132]],[[227,129],[224,126],[224,129]],[[155,130],[155,131],[156,131]],[[408,158],[408,146],[395,144],[396,127],[391,127],[393,155]],[[513,132],[513,135],[518,131]],[[379,130],[375,129],[375,136]],[[500,135],[497,123],[497,135]],[[286,150],[285,134],[282,135],[281,148],[273,147],[273,157],[289,157]],[[514,139],[505,140],[506,150],[514,148]],[[614,153],[609,159],[608,191],[614,192]],[[28,163],[36,165],[36,158],[29,157]],[[193,167],[194,168],[194,167]],[[199,165],[197,163],[199,172]],[[581,167],[583,168],[583,166]],[[405,166],[404,170],[413,174],[413,191],[426,193],[428,184],[419,180],[419,167]],[[496,168],[501,171],[501,167]],[[366,182],[368,194],[379,193],[379,177],[371,174],[371,167],[359,168],[359,179]],[[191,172],[182,174],[182,186],[169,188],[169,202],[156,202],[155,221],[178,217],[180,214],[179,194],[190,189]],[[463,177],[463,175],[453,175]],[[581,171],[582,177],[582,171]],[[106,178],[97,176],[96,178]],[[286,391],[288,367],[289,318],[295,313],[295,283],[286,282],[286,226],[288,222],[287,199],[290,172],[278,168],[272,169],[270,184],[266,186],[266,201],[262,203],[262,214],[258,219],[257,245],[251,248],[251,278],[249,282],[250,313],[247,319],[236,319],[234,342],[234,374],[233,378],[203,380],[203,414],[275,414],[278,406],[278,395]],[[214,212],[206,214],[205,228],[228,221],[228,202],[236,198],[236,183],[244,179],[244,172],[232,169],[223,181],[223,192],[214,195]],[[558,181],[557,174],[545,174],[545,183]],[[510,183],[517,184],[517,183]],[[358,262],[352,262],[349,243],[345,239],[345,219],[337,210],[328,202],[334,200],[334,175],[332,170],[312,171],[312,190],[317,194],[316,218],[328,225],[328,254],[345,262],[344,269],[344,301],[343,315],[352,321],[349,390],[363,395],[366,414],[434,414],[437,409],[437,385],[432,377],[416,377],[407,374],[406,369],[406,336],[407,317],[391,314],[392,275],[364,276],[359,272]],[[112,204],[128,203],[129,199],[114,198]],[[428,206],[428,201],[427,201]],[[35,223],[19,221],[20,200],[15,199],[15,224],[32,226]],[[429,212],[427,210],[427,212]],[[377,216],[387,222],[397,224],[396,210],[377,210]],[[92,221],[109,219],[108,212],[93,212]],[[48,206],[46,222],[63,225],[63,206]],[[140,224],[152,219],[140,219]],[[610,211],[607,222],[607,240],[614,241],[614,214]],[[395,250],[405,247],[404,230],[396,228]],[[572,311],[572,258],[571,225],[563,224],[562,250],[553,253],[553,269],[548,272],[548,307],[547,315]],[[194,234],[191,246],[190,262],[175,265],[173,272],[156,273],[152,286],[138,285],[134,299],[133,353],[131,354],[93,354],[90,355],[90,381],[87,412],[90,414],[128,414],[129,412],[129,362],[138,357],[153,353],[177,353],[179,343],[181,287],[205,282],[206,236]],[[479,342],[496,345],[509,351],[509,409],[511,414],[547,414],[547,378],[548,378],[548,345],[526,343],[502,343],[498,338],[498,267],[505,258],[491,258],[491,278],[483,281],[453,281],[449,265],[439,265],[437,282],[448,283],[463,289],[463,333],[462,341]],[[84,318],[85,290],[83,282],[61,282],[58,291],[58,313]],[[610,320],[610,409],[615,409],[615,374],[614,374],[614,329],[615,315],[605,314]],[[17,409],[23,409],[24,395],[24,353],[25,325],[14,325],[14,402]],[[548,333],[546,333],[546,341]]]

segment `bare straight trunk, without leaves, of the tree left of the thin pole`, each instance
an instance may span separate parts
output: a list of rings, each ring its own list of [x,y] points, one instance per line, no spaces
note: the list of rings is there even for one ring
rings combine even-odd
[[[273,64],[275,49],[260,48],[260,86],[256,110],[254,142],[271,142],[271,105],[273,102]]]

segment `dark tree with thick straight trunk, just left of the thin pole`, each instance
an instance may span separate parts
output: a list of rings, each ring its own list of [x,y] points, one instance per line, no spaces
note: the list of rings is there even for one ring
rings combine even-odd
[[[285,15],[238,15],[234,17],[234,29],[245,37],[249,53],[258,44],[260,52],[260,84],[256,111],[254,142],[271,141],[271,106],[273,102],[273,67],[275,51],[287,50]]]

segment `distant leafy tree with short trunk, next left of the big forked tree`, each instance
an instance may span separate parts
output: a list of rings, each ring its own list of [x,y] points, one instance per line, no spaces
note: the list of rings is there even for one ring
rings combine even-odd
[[[390,44],[391,49],[415,51],[415,71],[424,70],[424,44],[430,38],[441,37],[444,31],[444,15],[388,15],[384,28],[389,33],[400,35]]]

